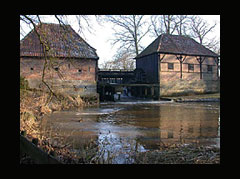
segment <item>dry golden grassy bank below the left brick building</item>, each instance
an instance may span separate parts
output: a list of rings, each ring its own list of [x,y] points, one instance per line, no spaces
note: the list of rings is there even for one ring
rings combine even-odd
[[[20,86],[20,134],[28,141],[35,143],[37,147],[59,161],[67,163],[74,158],[69,146],[53,146],[48,136],[42,135],[40,124],[42,118],[54,111],[73,110],[86,106],[95,106],[96,103],[84,101],[79,96],[72,97],[63,94],[49,94],[44,91],[21,88]],[[20,149],[20,164],[33,164],[34,160]]]

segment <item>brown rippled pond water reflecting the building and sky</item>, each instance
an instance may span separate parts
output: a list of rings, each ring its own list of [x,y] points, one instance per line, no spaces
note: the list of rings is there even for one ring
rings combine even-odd
[[[105,155],[119,153],[115,163],[126,163],[126,153],[132,150],[143,152],[174,143],[220,147],[220,104],[101,103],[98,107],[54,112],[41,126],[53,143],[61,140],[78,150],[97,141],[99,150],[107,151]]]

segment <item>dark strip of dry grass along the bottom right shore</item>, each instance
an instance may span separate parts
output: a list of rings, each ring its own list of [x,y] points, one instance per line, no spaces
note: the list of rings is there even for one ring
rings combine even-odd
[[[197,145],[174,145],[139,153],[136,164],[220,164],[220,149]]]

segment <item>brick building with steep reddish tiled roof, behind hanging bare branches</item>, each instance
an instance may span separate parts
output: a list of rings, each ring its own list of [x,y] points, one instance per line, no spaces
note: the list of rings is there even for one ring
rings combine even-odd
[[[42,83],[45,70],[44,81],[55,92],[97,97],[96,49],[69,25],[42,23],[36,31],[20,41],[20,75],[29,86],[46,88]]]

